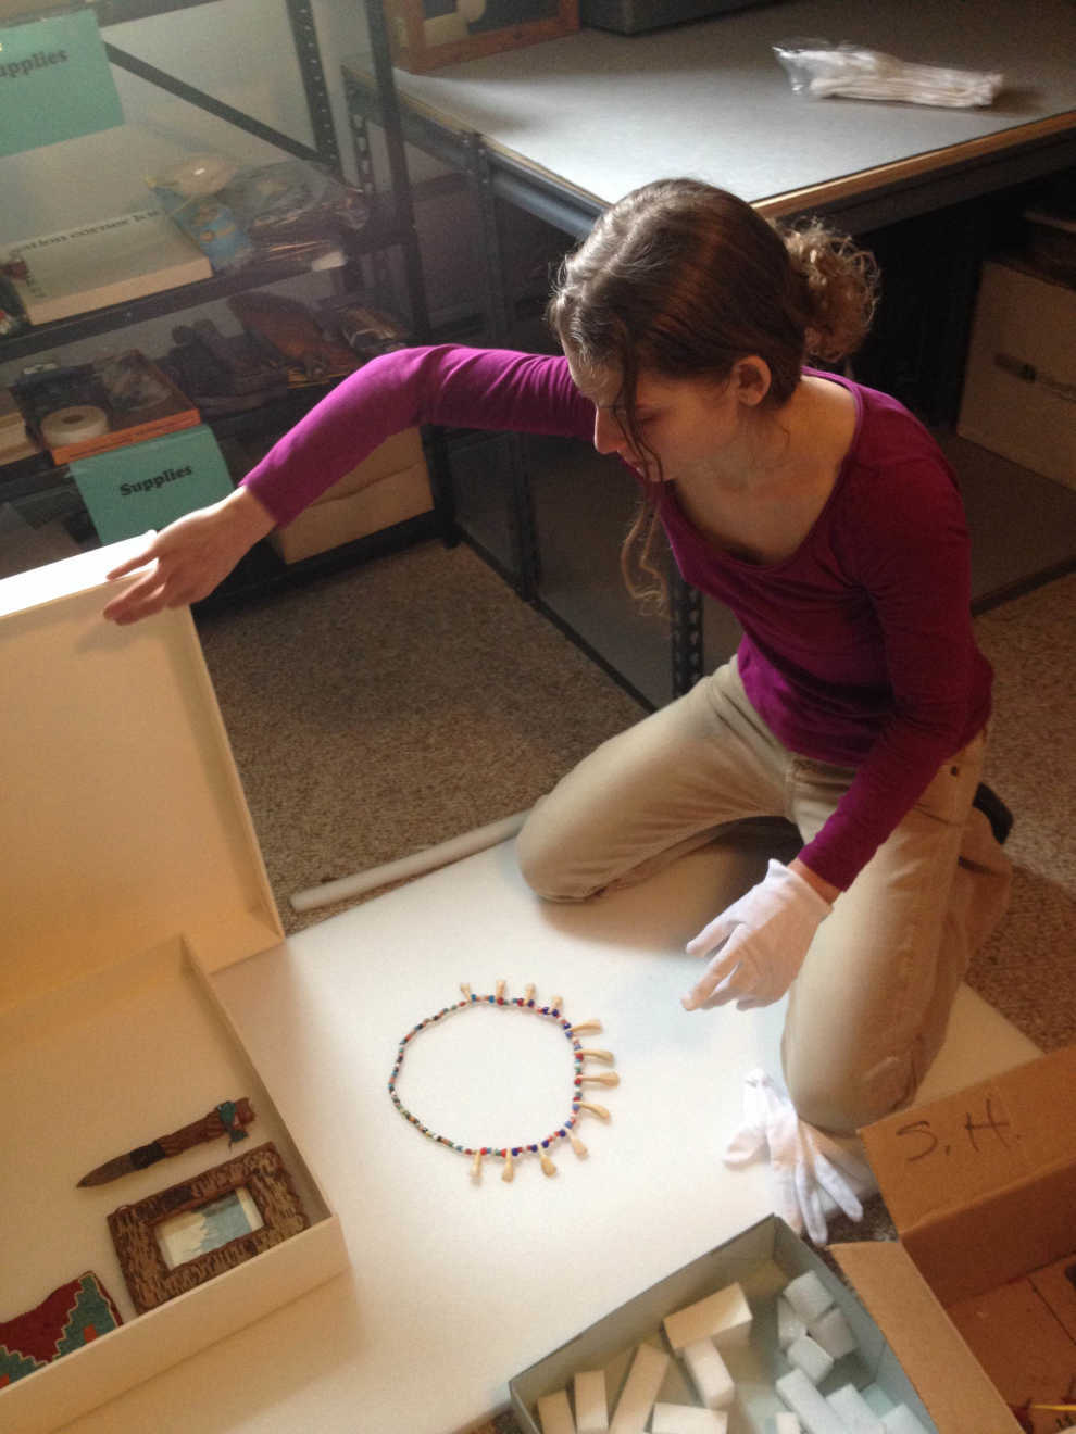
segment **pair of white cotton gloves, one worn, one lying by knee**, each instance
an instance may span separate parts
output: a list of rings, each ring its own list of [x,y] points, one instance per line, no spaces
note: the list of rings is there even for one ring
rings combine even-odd
[[[687,1011],[736,1002],[740,1011],[770,1005],[792,985],[808,946],[831,912],[802,876],[770,860],[766,876],[689,941],[689,955],[710,955],[683,997]],[[785,1090],[762,1070],[743,1087],[743,1124],[726,1147],[729,1164],[769,1154],[776,1203],[792,1229],[822,1245],[834,1207],[862,1219],[861,1193],[874,1189],[869,1166],[796,1114]],[[829,1197],[828,1203],[826,1197]]]

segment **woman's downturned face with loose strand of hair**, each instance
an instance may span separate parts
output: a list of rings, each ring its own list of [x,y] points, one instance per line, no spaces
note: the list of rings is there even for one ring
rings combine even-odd
[[[577,389],[594,403],[594,447],[615,453],[647,482],[686,480],[720,465],[740,435],[743,404],[729,380],[664,379],[643,371],[636,384],[636,445],[627,427],[620,374],[580,371]]]

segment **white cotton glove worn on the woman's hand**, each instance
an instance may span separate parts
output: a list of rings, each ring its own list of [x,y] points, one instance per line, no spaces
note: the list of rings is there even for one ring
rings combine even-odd
[[[802,876],[770,860],[758,886],[687,942],[690,956],[710,956],[681,1005],[707,1010],[736,1001],[737,1011],[779,1001],[803,965],[829,902]]]

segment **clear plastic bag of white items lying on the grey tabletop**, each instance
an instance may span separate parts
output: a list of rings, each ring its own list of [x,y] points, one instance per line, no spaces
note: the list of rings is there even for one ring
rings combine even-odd
[[[782,40],[773,46],[798,95],[849,99],[905,100],[912,105],[948,105],[966,108],[991,105],[1004,85],[997,72],[958,70],[938,65],[911,65],[865,50],[846,42]]]

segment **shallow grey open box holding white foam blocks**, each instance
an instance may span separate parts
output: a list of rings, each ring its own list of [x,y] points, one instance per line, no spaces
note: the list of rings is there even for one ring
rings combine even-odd
[[[838,1359],[821,1384],[822,1392],[849,1382],[858,1388],[874,1385],[891,1404],[905,1404],[925,1430],[933,1430],[908,1377],[854,1291],[773,1215],[637,1295],[511,1380],[512,1410],[522,1430],[525,1434],[541,1434],[537,1417],[539,1397],[571,1388],[578,1369],[605,1371],[611,1412],[636,1347],[647,1342],[669,1352],[661,1329],[666,1315],[739,1282],[753,1312],[753,1326],[746,1349],[722,1351],[737,1391],[730,1427],[737,1434],[770,1434],[773,1415],[785,1410],[773,1391],[773,1381],[789,1369],[778,1344],[776,1298],[789,1281],[808,1271],[813,1271],[829,1289],[858,1344],[856,1352]],[[659,1400],[699,1402],[684,1367],[676,1358],[670,1359]],[[974,1434],[986,1434],[986,1430],[971,1424],[964,1427],[963,1434],[973,1434],[973,1430]]]

